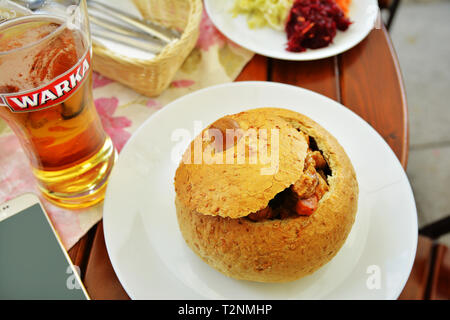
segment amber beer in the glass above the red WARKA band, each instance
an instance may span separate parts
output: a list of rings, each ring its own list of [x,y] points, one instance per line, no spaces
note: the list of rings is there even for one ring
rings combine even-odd
[[[62,29],[39,42],[61,26],[53,21],[30,20],[6,30],[0,29],[0,87],[28,90],[44,85],[74,66],[86,51],[83,37],[76,31]],[[26,47],[29,44],[34,46]]]

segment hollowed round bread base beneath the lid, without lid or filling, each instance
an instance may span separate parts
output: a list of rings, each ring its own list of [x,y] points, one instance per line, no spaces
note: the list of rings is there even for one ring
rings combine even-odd
[[[175,204],[179,227],[188,246],[227,276],[258,282],[293,281],[329,262],[344,244],[357,210],[355,171],[337,140],[308,117],[276,108],[254,109],[247,113],[270,113],[313,137],[332,172],[328,177],[329,191],[309,217],[261,222],[250,221],[244,216],[233,218],[226,214],[200,213],[177,191]],[[180,181],[176,180],[176,190],[180,190],[178,183]]]

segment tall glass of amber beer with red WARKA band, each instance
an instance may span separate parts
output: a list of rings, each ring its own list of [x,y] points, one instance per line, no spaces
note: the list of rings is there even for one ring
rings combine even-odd
[[[92,206],[104,198],[117,155],[93,102],[86,2],[20,3],[0,0],[0,117],[48,200]]]

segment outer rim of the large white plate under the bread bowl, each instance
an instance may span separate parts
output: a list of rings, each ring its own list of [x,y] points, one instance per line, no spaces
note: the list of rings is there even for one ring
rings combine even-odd
[[[347,112],[349,115],[352,115],[353,117],[356,117],[356,118],[358,118],[359,120],[362,120],[366,125],[367,125],[367,127],[368,127],[368,129],[370,130],[370,131],[372,131],[372,134],[375,134],[379,139],[380,139],[380,141],[387,147],[387,149],[389,150],[388,152],[389,153],[391,153],[391,155],[393,155],[394,156],[394,158],[396,159],[396,162],[398,163],[398,165],[402,168],[402,172],[401,172],[401,175],[402,175],[402,178],[400,179],[400,180],[398,180],[398,181],[396,181],[396,182],[394,182],[394,183],[392,183],[392,184],[390,184],[390,185],[386,185],[386,186],[384,186],[384,187],[382,187],[380,190],[382,190],[382,189],[384,189],[384,188],[386,188],[386,187],[389,187],[389,186],[392,186],[392,185],[396,185],[396,184],[399,184],[399,183],[402,183],[402,182],[406,182],[406,186],[408,187],[408,195],[412,198],[411,200],[411,204],[412,204],[412,206],[413,206],[413,208],[414,208],[414,211],[416,212],[416,215],[414,216],[415,218],[414,218],[414,223],[413,223],[413,225],[412,225],[412,235],[414,235],[414,242],[413,242],[413,250],[411,250],[410,252],[409,252],[409,257],[408,257],[408,260],[409,260],[409,262],[408,262],[408,268],[407,268],[407,270],[405,270],[405,273],[404,273],[404,276],[403,276],[403,279],[402,279],[402,281],[399,281],[399,285],[397,286],[397,288],[396,288],[396,290],[395,290],[395,293],[393,293],[393,295],[391,296],[391,297],[386,297],[386,299],[387,300],[389,300],[389,299],[397,299],[399,296],[400,296],[400,294],[401,294],[401,292],[403,291],[403,289],[404,289],[404,287],[405,287],[405,285],[406,285],[406,282],[408,281],[408,279],[409,279],[409,277],[410,277],[410,274],[411,274],[411,271],[412,271],[412,268],[413,268],[413,265],[414,265],[414,260],[415,260],[415,255],[416,255],[416,251],[417,251],[417,244],[418,244],[418,219],[417,219],[417,207],[416,207],[416,203],[415,203],[415,198],[414,198],[414,193],[413,193],[413,191],[412,191],[412,187],[411,187],[411,184],[410,184],[410,182],[409,182],[409,179],[408,179],[408,177],[407,177],[407,175],[406,175],[406,172],[405,172],[405,170],[404,170],[404,168],[403,168],[403,166],[401,165],[401,163],[400,163],[400,161],[398,160],[398,158],[397,158],[397,156],[395,155],[395,153],[394,153],[394,151],[391,149],[391,147],[389,146],[389,144],[383,139],[383,137],[366,121],[366,120],[364,120],[362,117],[360,117],[357,113],[355,113],[355,112],[353,112],[352,110],[350,110],[349,108],[347,108],[346,106],[344,106],[343,104],[341,104],[340,102],[338,102],[338,101],[335,101],[335,100],[333,100],[333,99],[331,99],[331,98],[329,98],[329,97],[327,97],[327,96],[325,96],[325,95],[322,95],[322,94],[320,94],[320,93],[317,93],[317,92],[315,92],[315,91],[312,91],[312,90],[309,90],[309,89],[305,89],[305,88],[302,88],[302,87],[298,87],[298,86],[295,86],[295,85],[290,85],[290,84],[284,84],[284,83],[279,83],[279,82],[269,82],[269,81],[239,81],[239,82],[229,82],[229,83],[223,83],[223,84],[218,84],[218,85],[213,85],[213,86],[209,86],[209,87],[206,87],[206,88],[202,88],[202,89],[199,89],[199,90],[197,90],[197,91],[194,91],[194,92],[191,92],[191,93],[189,93],[189,94],[186,94],[186,95],[184,95],[184,96],[181,96],[181,97],[179,97],[179,98],[177,98],[177,99],[175,99],[175,100],[173,100],[173,101],[171,101],[170,103],[168,103],[167,105],[165,105],[162,109],[160,109],[160,110],[157,110],[155,113],[153,113],[150,117],[148,117],[136,130],[135,130],[135,132],[132,134],[132,136],[130,137],[130,139],[126,142],[126,144],[124,145],[124,147],[122,148],[122,151],[121,151],[121,153],[123,153],[124,151],[126,152],[126,150],[128,149],[128,148],[130,148],[130,145],[133,143],[133,141],[135,140],[135,139],[137,139],[136,137],[139,135],[139,132],[141,131],[141,130],[143,130],[143,128],[144,127],[146,127],[147,125],[148,125],[148,123],[151,123],[151,122],[153,122],[153,121],[157,121],[157,118],[158,117],[160,117],[161,116],[161,114],[162,113],[164,113],[164,112],[168,112],[168,110],[169,109],[172,109],[172,108],[174,108],[174,105],[176,105],[177,103],[178,103],[178,101],[179,100],[182,100],[182,99],[184,99],[185,97],[187,97],[187,96],[194,96],[194,95],[201,95],[201,94],[203,94],[203,92],[205,92],[205,91],[209,91],[209,90],[220,90],[220,89],[222,89],[222,88],[226,88],[226,87],[239,87],[239,86],[250,86],[250,87],[252,87],[252,86],[254,86],[254,87],[259,87],[259,86],[271,86],[271,87],[287,87],[287,88],[290,88],[290,89],[294,89],[294,90],[300,90],[300,91],[303,91],[304,93],[307,93],[307,94],[312,94],[312,95],[315,95],[315,96],[318,96],[318,97],[320,97],[320,98],[322,98],[322,99],[325,99],[325,100],[328,100],[328,102],[331,102],[331,103],[333,103],[333,104],[335,104],[336,106],[339,106],[341,109],[342,109],[342,111],[343,112]],[[119,159],[118,159],[118,162],[120,161],[120,156],[119,156]],[[117,163],[118,163],[117,162]],[[111,175],[110,175],[110,178],[115,174],[114,172],[115,171],[117,171],[116,170],[116,168],[117,168],[117,163],[116,163],[116,165],[113,167],[113,170],[112,170],[112,172],[111,172]],[[106,218],[105,219],[105,217],[107,217],[108,216],[108,214],[106,213],[107,211],[106,211],[106,207],[107,207],[107,205],[106,205],[106,203],[107,202],[109,202],[109,191],[110,190],[110,188],[109,188],[109,184],[108,184],[108,186],[107,186],[107,189],[106,189],[106,194],[105,194],[105,200],[104,200],[104,203],[103,203],[103,208],[102,208],[102,220],[103,220],[103,231],[104,231],[104,239],[105,239],[105,246],[106,246],[106,251],[107,251],[107,254],[108,254],[108,258],[109,258],[109,260],[110,260],[110,262],[111,262],[111,265],[112,265],[112,267],[113,267],[113,270],[114,270],[114,272],[116,273],[116,275],[117,275],[117,278],[118,278],[118,280],[119,280],[119,282],[120,282],[120,284],[121,284],[121,286],[122,286],[122,288],[125,290],[125,292],[128,294],[128,296],[131,298],[131,299],[139,299],[139,298],[136,298],[135,297],[135,295],[134,294],[132,294],[132,292],[129,290],[129,288],[126,288],[126,286],[123,284],[123,280],[122,279],[124,279],[124,276],[123,276],[123,274],[122,274],[122,272],[120,271],[120,268],[116,265],[116,262],[115,261],[113,261],[113,259],[111,259],[111,256],[112,256],[112,254],[111,254],[111,252],[112,252],[112,249],[110,248],[110,241],[111,240],[109,240],[110,239],[110,236],[111,236],[111,232],[110,231],[107,231],[107,230],[110,230],[110,225],[109,225],[109,220],[108,220],[108,218]],[[407,271],[407,272],[406,272]]]

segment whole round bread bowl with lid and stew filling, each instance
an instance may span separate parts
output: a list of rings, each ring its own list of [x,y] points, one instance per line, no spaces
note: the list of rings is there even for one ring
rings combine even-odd
[[[213,129],[225,138],[225,129],[241,132],[225,143]],[[258,134],[247,135],[252,130]],[[268,147],[268,158],[278,156],[275,166],[251,157],[255,142]],[[224,161],[197,161],[196,150]],[[225,161],[228,153],[234,163]],[[358,202],[355,171],[338,141],[308,117],[278,108],[229,115],[205,128],[183,156],[175,192],[187,245],[221,273],[258,282],[297,280],[329,262]]]

